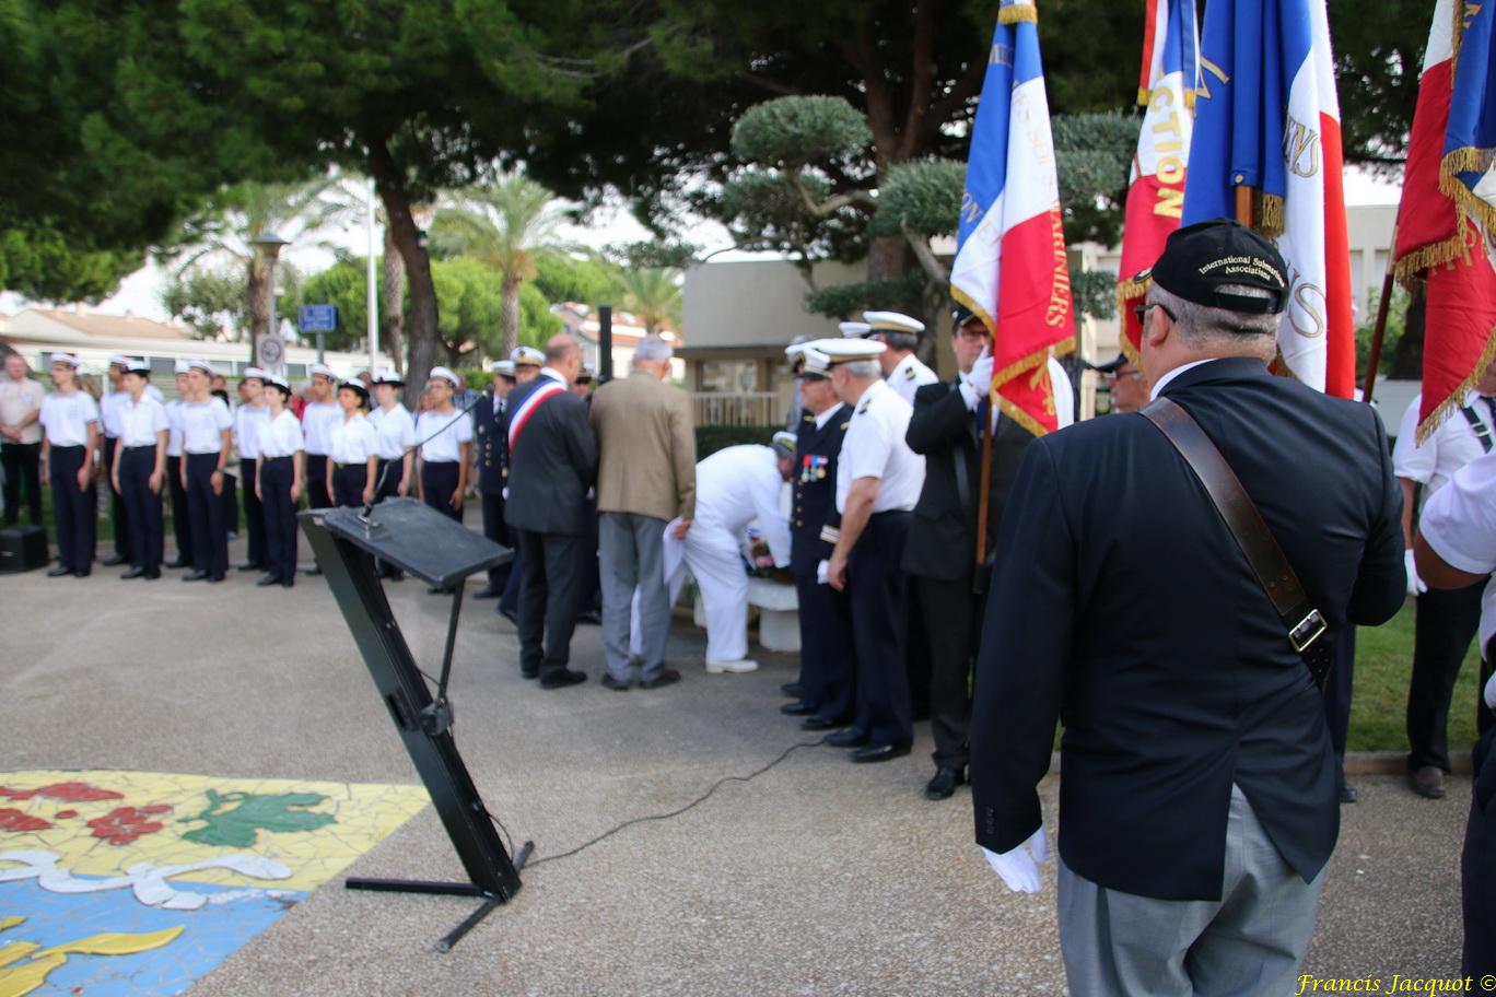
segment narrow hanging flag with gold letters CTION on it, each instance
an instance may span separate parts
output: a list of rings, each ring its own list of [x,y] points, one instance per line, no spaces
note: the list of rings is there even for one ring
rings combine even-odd
[[[1137,102],[1147,108],[1137,136],[1137,154],[1126,188],[1122,230],[1122,280],[1118,305],[1122,350],[1140,360],[1141,327],[1131,305],[1147,293],[1132,277],[1153,266],[1168,233],[1185,212],[1189,139],[1195,129],[1195,88],[1200,82],[1200,28],[1195,0],[1147,0],[1143,28],[1143,72]]]

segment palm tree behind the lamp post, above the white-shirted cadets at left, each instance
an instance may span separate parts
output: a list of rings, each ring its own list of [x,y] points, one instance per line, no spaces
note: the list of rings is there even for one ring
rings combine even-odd
[[[186,259],[177,277],[209,257],[227,257],[245,274],[250,329],[236,329],[238,338],[250,332],[250,362],[254,342],[269,330],[269,262],[250,244],[263,235],[278,235],[287,244],[305,242],[319,230],[349,217],[355,199],[343,188],[343,178],[329,175],[293,184],[244,182],[218,191],[209,205],[183,223],[184,236],[165,253],[163,260]]]

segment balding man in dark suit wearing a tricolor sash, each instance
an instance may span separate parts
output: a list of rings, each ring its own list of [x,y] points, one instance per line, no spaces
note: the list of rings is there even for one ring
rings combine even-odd
[[[540,377],[510,392],[509,502],[519,540],[519,671],[543,689],[586,680],[567,668],[576,629],[579,549],[586,535],[586,490],[597,478],[597,438],[586,404],[567,387],[582,369],[582,347],[565,333],[546,344]]]

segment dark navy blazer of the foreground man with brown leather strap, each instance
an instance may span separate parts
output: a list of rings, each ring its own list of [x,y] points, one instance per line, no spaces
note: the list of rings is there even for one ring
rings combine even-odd
[[[1242,480],[1328,622],[1403,604],[1402,495],[1381,420],[1251,359],[1164,395]],[[1040,825],[1064,723],[1059,852],[1086,879],[1216,900],[1231,785],[1305,880],[1339,833],[1321,694],[1203,486],[1140,414],[1037,439],[998,538],[971,723],[977,842]]]

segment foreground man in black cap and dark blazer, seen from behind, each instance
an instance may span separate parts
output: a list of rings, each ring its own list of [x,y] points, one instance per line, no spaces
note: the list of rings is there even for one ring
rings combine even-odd
[[[1333,650],[1402,607],[1402,496],[1370,407],[1269,374],[1287,275],[1233,221],[1177,230],[1143,366],[1234,469]],[[1339,833],[1334,753],[1290,625],[1200,480],[1144,416],[1073,426],[1029,447],[998,550],[977,842],[1010,888],[1040,889],[1035,786],[1062,719],[1071,993],[1293,993]]]

